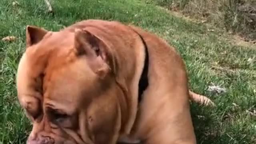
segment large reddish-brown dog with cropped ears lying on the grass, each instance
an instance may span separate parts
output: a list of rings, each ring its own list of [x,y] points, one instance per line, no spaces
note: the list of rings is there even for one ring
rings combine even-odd
[[[85,20],[59,32],[26,27],[18,99],[27,144],[195,144],[184,63],[134,26]]]

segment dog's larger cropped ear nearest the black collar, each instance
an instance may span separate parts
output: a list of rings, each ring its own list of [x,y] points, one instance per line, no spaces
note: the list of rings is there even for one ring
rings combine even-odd
[[[105,42],[88,30],[76,29],[74,34],[74,47],[78,56],[85,55],[94,72],[100,77],[106,76],[110,70],[110,60]]]

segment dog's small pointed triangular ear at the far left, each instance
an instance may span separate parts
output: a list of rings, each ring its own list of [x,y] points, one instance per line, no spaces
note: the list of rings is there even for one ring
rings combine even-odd
[[[42,40],[47,30],[36,26],[26,26],[26,48]]]

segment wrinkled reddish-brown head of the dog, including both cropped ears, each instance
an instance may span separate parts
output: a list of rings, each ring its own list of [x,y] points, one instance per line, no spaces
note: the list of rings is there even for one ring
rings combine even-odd
[[[27,144],[107,144],[120,130],[108,46],[87,30],[26,27],[19,102],[33,128]]]

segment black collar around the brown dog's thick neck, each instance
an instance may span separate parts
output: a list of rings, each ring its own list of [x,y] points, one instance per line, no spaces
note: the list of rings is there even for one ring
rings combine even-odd
[[[138,32],[136,32],[138,34]],[[144,39],[140,34],[138,34],[144,44],[144,49],[145,49],[145,60],[144,60],[144,68],[142,71],[142,74],[140,76],[140,81],[139,81],[139,92],[138,92],[138,103],[141,102],[142,100],[142,94],[144,90],[148,87],[148,47]]]

